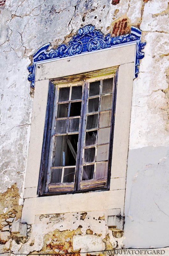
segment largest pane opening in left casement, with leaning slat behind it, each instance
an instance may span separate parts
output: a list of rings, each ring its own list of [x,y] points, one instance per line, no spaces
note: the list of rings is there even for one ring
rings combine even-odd
[[[53,166],[76,165],[77,143],[78,134],[56,136]]]

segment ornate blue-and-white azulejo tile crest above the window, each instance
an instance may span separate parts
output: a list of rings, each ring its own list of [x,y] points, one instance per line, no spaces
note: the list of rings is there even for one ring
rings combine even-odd
[[[146,44],[145,42],[141,43],[141,30],[131,27],[130,34],[111,37],[110,34],[105,36],[92,25],[86,25],[77,31],[77,35],[73,36],[67,45],[61,44],[56,49],[51,49],[50,51],[47,51],[51,45],[50,43],[41,46],[33,54],[33,62],[28,66],[28,71],[30,72],[28,80],[31,82],[31,87],[34,87],[35,70],[38,63],[131,43],[136,43],[135,77],[137,77],[140,65],[139,60],[144,57],[142,49],[144,49]]]

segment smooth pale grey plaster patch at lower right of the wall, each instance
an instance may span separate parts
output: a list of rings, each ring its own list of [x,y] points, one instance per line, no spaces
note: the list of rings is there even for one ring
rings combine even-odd
[[[169,147],[129,150],[125,198],[125,247],[157,248],[166,245],[164,237],[167,236],[169,229],[169,206],[166,204],[169,196],[168,165]],[[160,238],[160,230],[163,232],[163,239]]]

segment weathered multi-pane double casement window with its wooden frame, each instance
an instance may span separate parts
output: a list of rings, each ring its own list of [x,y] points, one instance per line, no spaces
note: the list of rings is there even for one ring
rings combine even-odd
[[[40,195],[109,188],[116,79],[108,71],[50,83]]]

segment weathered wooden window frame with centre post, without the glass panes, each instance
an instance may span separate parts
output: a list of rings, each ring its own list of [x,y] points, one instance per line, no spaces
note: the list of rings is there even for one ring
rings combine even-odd
[[[113,75],[114,74],[114,75]],[[107,178],[98,178],[92,180],[84,180],[81,181],[81,173],[82,173],[82,153],[79,153],[78,161],[78,168],[75,175],[75,182],[74,183],[54,183],[54,184],[47,184],[49,173],[48,168],[48,159],[52,152],[51,149],[51,138],[53,133],[54,126],[54,112],[56,112],[56,97],[57,97],[57,90],[55,87],[57,85],[63,86],[63,84],[69,84],[83,82],[84,92],[82,97],[82,105],[83,109],[86,108],[87,99],[88,99],[88,89],[87,86],[92,81],[97,81],[101,79],[106,79],[113,77],[113,99],[112,99],[112,115],[111,115],[111,125],[110,125],[110,140],[109,140],[109,156],[108,156],[108,171],[107,171]],[[87,79],[87,81],[86,81]],[[47,109],[46,109],[46,119],[45,119],[45,126],[44,126],[44,135],[43,135],[43,145],[42,145],[42,154],[41,154],[41,163],[40,163],[40,174],[39,174],[39,182],[38,182],[38,189],[37,194],[39,196],[52,196],[52,195],[59,195],[59,194],[74,194],[74,193],[84,193],[89,191],[100,191],[100,190],[109,190],[110,189],[110,177],[111,177],[111,164],[112,164],[112,150],[113,150],[113,134],[114,134],[114,117],[115,117],[115,102],[116,102],[116,86],[117,86],[117,79],[118,79],[118,67],[114,68],[105,68],[101,70],[95,70],[92,72],[86,72],[83,74],[78,74],[74,76],[67,76],[61,77],[57,79],[52,79],[49,81],[48,87],[48,100],[47,100]],[[61,87],[60,87],[61,88]],[[84,122],[86,113],[82,110],[82,116],[80,121],[80,130],[79,130],[79,148],[83,151],[83,141],[85,138],[85,130]],[[54,116],[54,117],[53,117]],[[55,118],[54,118],[55,119]],[[77,156],[77,157],[78,157]],[[82,185],[80,184],[82,183]],[[80,189],[83,186],[83,188]],[[51,191],[47,192],[47,186]],[[53,190],[53,191],[52,191]],[[57,190],[57,191],[55,191]]]

